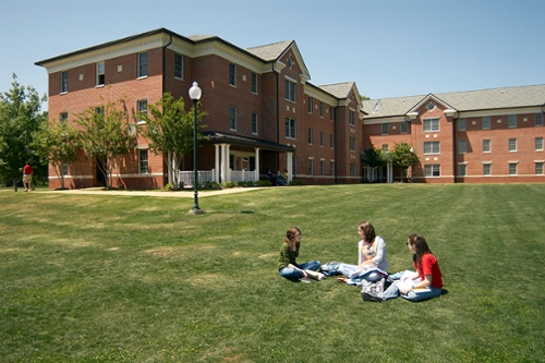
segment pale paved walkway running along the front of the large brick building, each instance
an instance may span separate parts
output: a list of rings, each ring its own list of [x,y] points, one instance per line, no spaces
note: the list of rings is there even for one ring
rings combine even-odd
[[[263,190],[264,187],[230,187],[215,191],[198,191],[198,197],[222,195],[232,193],[244,193],[255,190]],[[193,190],[184,190],[177,192],[166,191],[123,191],[123,190],[109,190],[105,191],[102,187],[88,187],[88,189],[70,189],[64,191],[38,191],[37,193],[55,193],[55,194],[96,194],[96,195],[130,195],[130,196],[165,196],[165,197],[179,197],[179,198],[193,198]]]

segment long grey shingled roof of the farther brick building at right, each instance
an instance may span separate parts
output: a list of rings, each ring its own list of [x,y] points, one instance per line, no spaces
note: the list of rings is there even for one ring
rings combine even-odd
[[[457,111],[535,107],[545,105],[545,85],[370,99],[363,101],[363,109],[368,113],[367,118],[402,116],[429,97],[443,101]]]

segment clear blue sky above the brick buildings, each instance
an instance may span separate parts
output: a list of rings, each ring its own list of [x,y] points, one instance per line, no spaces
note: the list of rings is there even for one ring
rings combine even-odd
[[[249,48],[294,39],[315,85],[389,98],[545,84],[542,0],[4,0],[0,92],[34,63],[166,27]],[[47,106],[44,107],[47,109]]]

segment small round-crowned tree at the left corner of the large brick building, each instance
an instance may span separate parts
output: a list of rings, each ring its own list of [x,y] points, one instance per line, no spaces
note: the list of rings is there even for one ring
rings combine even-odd
[[[61,189],[65,189],[62,167],[76,159],[80,149],[77,131],[68,122],[45,122],[35,135],[34,147],[41,161],[51,162],[57,177],[61,179]]]

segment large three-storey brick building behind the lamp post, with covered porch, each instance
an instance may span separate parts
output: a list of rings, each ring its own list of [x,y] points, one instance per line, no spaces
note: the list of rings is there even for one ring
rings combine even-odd
[[[315,86],[295,41],[241,49],[216,36],[180,36],[160,28],[36,62],[49,77],[50,122],[74,120],[105,99],[125,98],[132,117],[164,93],[183,97],[197,82],[209,141],[197,169],[214,181],[257,180],[289,170],[307,183],[359,183],[362,102],[354,83]],[[145,124],[143,124],[145,126]],[[112,185],[162,187],[172,180],[161,155],[142,135],[118,162]],[[193,170],[192,156],[182,162]],[[65,185],[102,180],[82,155],[65,168]],[[60,186],[53,170],[50,187]],[[204,178],[204,177],[203,177]],[[191,179],[189,180],[191,181]]]

